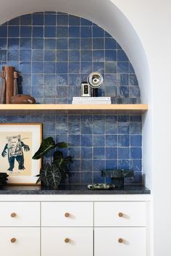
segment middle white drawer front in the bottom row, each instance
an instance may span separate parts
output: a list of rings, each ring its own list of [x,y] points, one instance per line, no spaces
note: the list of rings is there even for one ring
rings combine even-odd
[[[93,228],[41,228],[41,235],[41,256],[93,256]]]

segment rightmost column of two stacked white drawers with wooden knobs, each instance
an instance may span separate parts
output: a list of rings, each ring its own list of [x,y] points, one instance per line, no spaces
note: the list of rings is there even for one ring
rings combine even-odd
[[[94,202],[94,256],[146,256],[146,202]]]

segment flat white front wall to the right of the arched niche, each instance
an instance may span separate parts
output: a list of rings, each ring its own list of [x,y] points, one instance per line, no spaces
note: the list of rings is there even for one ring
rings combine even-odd
[[[171,253],[170,59],[171,1],[114,0],[135,28],[151,70],[153,96],[154,256]],[[151,151],[151,148],[149,148]]]

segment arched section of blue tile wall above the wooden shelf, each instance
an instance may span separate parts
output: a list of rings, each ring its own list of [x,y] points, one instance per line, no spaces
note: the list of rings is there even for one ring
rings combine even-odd
[[[0,62],[20,71],[20,92],[40,103],[71,103],[93,71],[104,75],[101,95],[116,103],[140,102],[125,52],[109,33],[80,17],[39,12],[9,20],[0,27]]]

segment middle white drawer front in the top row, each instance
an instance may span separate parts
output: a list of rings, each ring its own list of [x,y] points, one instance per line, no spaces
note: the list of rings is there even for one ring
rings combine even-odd
[[[42,202],[42,226],[93,226],[92,202]]]

